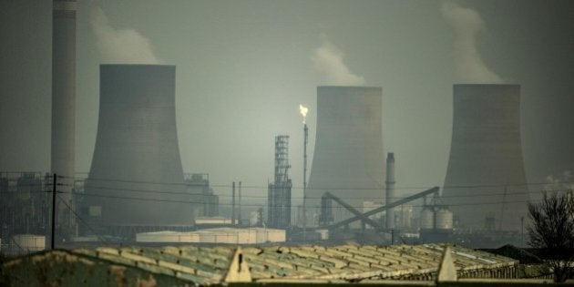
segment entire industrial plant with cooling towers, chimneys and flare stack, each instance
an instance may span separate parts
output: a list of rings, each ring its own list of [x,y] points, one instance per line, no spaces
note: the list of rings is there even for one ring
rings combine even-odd
[[[236,244],[451,241],[485,247],[516,242],[524,231],[529,196],[519,85],[454,85],[444,187],[412,194],[397,190],[395,164],[401,164],[401,155],[386,151],[385,158],[383,88],[317,87],[308,182],[308,109],[302,106],[304,141],[294,143],[303,146],[303,182],[295,184],[301,186],[302,206],[293,208],[292,194],[299,190],[290,177],[290,135],[278,135],[273,179],[262,188],[267,189],[266,214],[263,203],[250,222],[242,216],[241,181],[237,193],[235,182],[231,185],[231,208],[221,208],[221,191],[212,189],[208,173],[183,171],[176,67],[104,64],[91,168],[78,177],[76,5],[55,0],[53,6],[51,172],[0,173],[3,249],[104,238]]]

